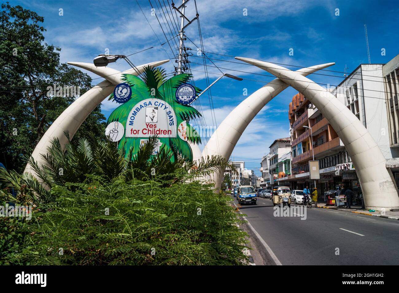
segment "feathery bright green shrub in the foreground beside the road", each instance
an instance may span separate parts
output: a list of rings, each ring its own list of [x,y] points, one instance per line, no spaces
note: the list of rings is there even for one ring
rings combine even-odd
[[[53,187],[57,205],[35,212],[30,264],[239,265],[246,234],[228,205],[197,182],[114,180]],[[107,208],[109,215],[106,214]],[[200,209],[199,209],[200,208]]]

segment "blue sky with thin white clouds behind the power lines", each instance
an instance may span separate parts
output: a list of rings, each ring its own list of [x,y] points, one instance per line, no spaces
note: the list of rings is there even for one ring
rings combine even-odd
[[[138,2],[156,35],[164,43],[166,39],[156,17],[151,16],[150,4],[147,0]],[[181,3],[179,0],[175,2],[179,5]],[[44,33],[45,41],[61,47],[62,62],[91,63],[93,57],[105,53],[107,48],[110,54],[129,55],[151,46],[154,48],[133,55],[130,60],[140,65],[173,57],[167,44],[161,47],[135,0],[12,0],[10,3],[22,5],[44,16],[44,27],[47,29]],[[159,2],[152,0],[151,3],[163,23],[160,17],[162,12],[155,5],[158,3],[159,6]],[[160,3],[168,5],[168,0],[160,0]],[[190,1],[187,6],[186,15],[192,19],[196,13],[194,1]],[[363,26],[367,24],[371,63],[387,63],[399,54],[397,1],[197,0],[197,6],[204,50],[208,52],[304,67],[335,62],[336,65],[329,70],[344,71],[347,65],[350,73],[359,64],[368,63]],[[63,9],[63,16],[59,16],[60,8]],[[339,16],[335,15],[337,8]],[[247,9],[247,16],[243,15],[243,9]],[[199,46],[196,22],[186,29],[186,35]],[[185,43],[186,47],[195,48],[189,40]],[[294,49],[293,56],[289,55],[290,48]],[[385,56],[381,55],[382,48],[385,48]],[[196,55],[196,51],[193,53]],[[235,81],[225,78],[212,88],[216,121],[211,116],[208,96],[201,96],[205,122],[208,126],[214,126],[215,123],[219,125],[247,97],[243,95],[243,88],[247,88],[248,94],[251,94],[265,85],[265,82],[273,80],[273,77],[251,65],[226,62],[237,62],[233,57],[207,55],[225,60],[213,60],[218,67],[225,68],[221,69],[224,73],[256,80]],[[195,64],[202,64],[202,59],[190,57],[189,60],[192,62],[196,85],[205,88],[205,76],[198,72],[204,70],[203,66]],[[173,65],[174,62],[169,62],[163,67],[170,72]],[[120,71],[129,68],[124,61],[111,67]],[[292,66],[288,68],[298,69]],[[219,73],[216,68],[209,67],[208,71],[210,81],[218,77],[211,74]],[[338,85],[344,78],[343,73],[320,73],[335,77],[310,75],[310,78],[317,83],[330,83],[332,86]],[[92,73],[89,75],[98,77]],[[100,81],[102,79],[95,79],[93,84]],[[261,157],[269,152],[270,144],[277,138],[288,136],[288,103],[294,94],[296,91],[293,88],[287,88],[265,106],[240,138],[232,159],[244,160],[248,168],[260,166]],[[117,104],[105,102],[105,116],[108,117],[116,107]]]

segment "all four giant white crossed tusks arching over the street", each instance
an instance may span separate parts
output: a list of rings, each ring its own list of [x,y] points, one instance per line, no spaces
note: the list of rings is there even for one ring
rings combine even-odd
[[[399,207],[398,191],[393,184],[393,175],[385,167],[385,157],[367,129],[344,104],[340,103],[322,87],[306,78],[307,75],[335,63],[326,63],[291,71],[273,63],[242,57],[235,58],[255,65],[275,75],[277,78],[255,91],[231,111],[215,130],[202,153],[198,145],[190,144],[194,159],[206,158],[212,155],[221,155],[225,159],[229,159],[235,145],[251,120],[272,98],[288,86],[292,86],[298,92],[304,94],[322,112],[344,143],[358,174],[366,208],[389,210],[390,208]],[[144,67],[148,65],[157,67],[168,61],[162,60],[148,63],[137,68],[142,73]],[[113,92],[115,85],[122,82],[123,73],[138,75],[134,69],[120,72],[108,67],[95,67],[91,63],[68,62],[68,64],[96,73],[105,78],[105,81],[94,86],[75,100],[45,132],[32,153],[32,157],[35,161],[38,161],[39,165],[41,164],[40,153],[47,153],[47,147],[50,146],[53,138],[58,138],[61,146],[65,149],[67,139],[63,132],[67,130],[70,138],[73,138],[87,116]],[[35,175],[30,165],[26,166],[24,172],[30,172]],[[220,174],[214,173],[212,176],[207,177],[206,180],[213,181],[215,189],[218,191],[222,177],[223,172]]]

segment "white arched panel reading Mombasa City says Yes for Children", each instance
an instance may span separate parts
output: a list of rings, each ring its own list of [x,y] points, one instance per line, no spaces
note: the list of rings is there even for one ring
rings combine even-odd
[[[173,108],[163,100],[146,99],[138,102],[126,121],[126,138],[175,138],[176,115]]]

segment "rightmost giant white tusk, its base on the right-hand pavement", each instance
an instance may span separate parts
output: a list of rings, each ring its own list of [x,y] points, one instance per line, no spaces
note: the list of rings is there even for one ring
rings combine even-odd
[[[399,207],[397,187],[385,157],[360,120],[330,92],[297,72],[264,61],[245,60],[280,77],[304,94],[320,110],[344,143],[359,177],[366,209],[383,210]]]

